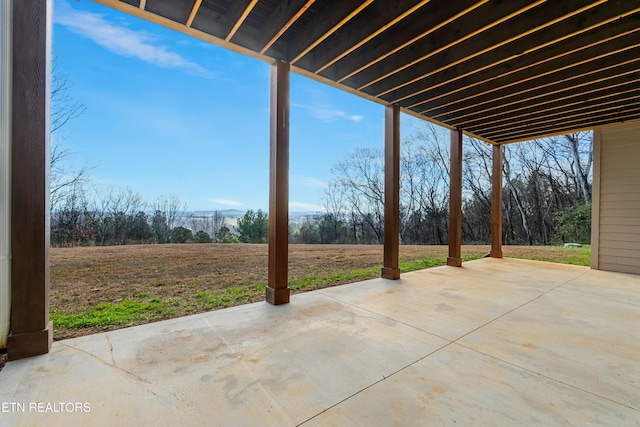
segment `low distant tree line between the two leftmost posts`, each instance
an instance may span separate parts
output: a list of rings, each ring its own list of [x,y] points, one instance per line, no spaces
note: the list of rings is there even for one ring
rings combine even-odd
[[[234,221],[219,211],[189,214],[178,196],[147,203],[130,189],[95,192],[76,184],[52,205],[51,245],[111,246],[151,243],[266,243],[268,215],[249,210]]]

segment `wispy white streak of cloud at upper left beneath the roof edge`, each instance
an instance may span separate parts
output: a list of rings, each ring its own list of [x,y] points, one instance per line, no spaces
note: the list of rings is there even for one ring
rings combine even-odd
[[[168,47],[157,44],[154,36],[109,22],[104,15],[78,11],[66,1],[57,2],[54,22],[70,31],[86,37],[111,52],[138,58],[149,64],[186,71],[189,74],[211,77],[211,73],[199,64],[189,61]]]

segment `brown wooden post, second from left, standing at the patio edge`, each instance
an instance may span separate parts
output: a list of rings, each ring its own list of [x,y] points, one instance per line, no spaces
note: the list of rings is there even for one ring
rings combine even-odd
[[[289,64],[271,66],[269,272],[267,302],[289,302]]]

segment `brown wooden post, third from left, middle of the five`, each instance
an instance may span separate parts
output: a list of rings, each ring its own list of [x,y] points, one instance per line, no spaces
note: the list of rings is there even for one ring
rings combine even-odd
[[[384,117],[384,279],[399,279],[400,107],[389,105]]]

